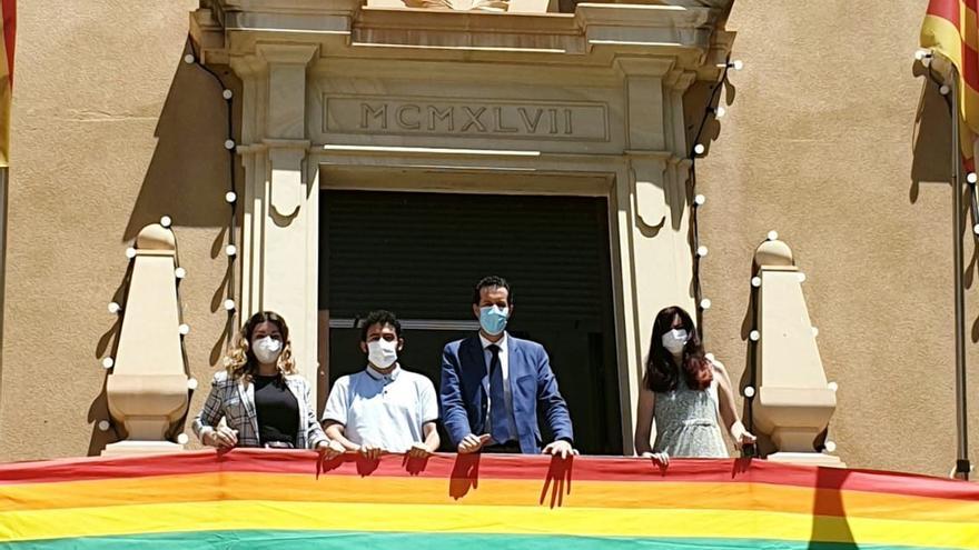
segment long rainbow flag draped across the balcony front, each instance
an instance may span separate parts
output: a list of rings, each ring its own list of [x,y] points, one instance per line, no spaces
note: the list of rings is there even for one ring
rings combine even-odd
[[[763,460],[235,450],[0,466],[0,547],[979,549],[979,487]]]

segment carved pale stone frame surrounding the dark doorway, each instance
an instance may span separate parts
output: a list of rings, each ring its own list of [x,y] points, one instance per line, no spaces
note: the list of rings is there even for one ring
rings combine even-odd
[[[263,309],[283,313],[300,371],[323,393],[317,368],[320,186],[338,176],[347,186],[378,186],[378,171],[387,170],[397,178],[384,181],[385,189],[458,191],[447,178],[466,173],[532,194],[603,189],[610,204],[623,451],[631,454],[652,318],[673,304],[695,311],[684,93],[694,81],[712,81],[720,72],[718,63],[733,40],[716,27],[724,9],[580,4],[574,17],[497,18],[366,10],[347,0],[215,0],[212,8],[196,13],[191,33],[205,61],[230,64],[243,84],[237,147],[245,167],[241,316]],[[424,40],[417,28],[425,29]],[[339,92],[318,88],[325,76],[387,63],[393,89],[376,76],[365,86],[368,93],[397,98],[411,93],[398,84],[408,63],[396,61],[408,49],[419,56],[412,61],[419,68],[441,62],[477,79],[479,71],[492,70],[504,81],[523,79],[524,87],[540,82],[544,92],[555,91],[550,98],[555,101],[576,99],[577,82],[590,86],[592,96],[583,97],[606,106],[606,139],[538,146],[493,136],[467,141],[327,131],[324,98]],[[482,64],[467,63],[471,59]],[[547,81],[547,71],[565,81]],[[596,87],[606,94],[595,98]],[[498,99],[533,99],[520,89],[503,86]],[[426,176],[423,184],[411,182],[417,173]],[[483,192],[501,189],[494,184]]]

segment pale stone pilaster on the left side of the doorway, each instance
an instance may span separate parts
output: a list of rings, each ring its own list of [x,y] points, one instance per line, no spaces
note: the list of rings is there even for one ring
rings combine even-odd
[[[284,316],[299,371],[315,386],[319,196],[308,178],[306,69],[318,48],[256,50],[231,60],[245,82],[238,148],[246,171],[241,316],[261,310]]]

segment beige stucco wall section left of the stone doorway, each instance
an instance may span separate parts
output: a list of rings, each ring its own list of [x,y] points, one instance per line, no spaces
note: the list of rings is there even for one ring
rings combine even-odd
[[[187,356],[208,387],[225,311],[220,89],[181,62],[196,0],[19,2],[0,460],[98,453],[100,366],[136,232],[174,218]],[[216,309],[217,311],[214,311]],[[199,409],[202,391],[194,397]]]

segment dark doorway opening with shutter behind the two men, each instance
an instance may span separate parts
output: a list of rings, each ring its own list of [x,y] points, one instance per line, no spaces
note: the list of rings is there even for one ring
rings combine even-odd
[[[357,320],[388,309],[404,320],[402,366],[437,388],[442,348],[477,330],[473,286],[500,274],[513,286],[507,330],[550,353],[577,448],[622,452],[605,198],[328,190],[319,242],[330,386],[366,364]]]

